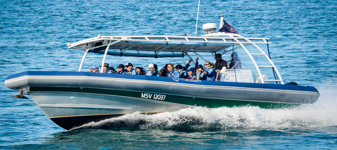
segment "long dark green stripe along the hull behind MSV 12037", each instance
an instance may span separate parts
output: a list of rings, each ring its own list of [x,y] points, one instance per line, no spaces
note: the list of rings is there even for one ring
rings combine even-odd
[[[239,100],[220,100],[220,99],[208,99],[208,98],[193,98],[189,96],[177,96],[168,95],[163,93],[154,92],[138,92],[128,90],[116,90],[116,89],[102,89],[102,88],[80,88],[80,87],[30,87],[30,91],[57,91],[57,92],[81,92],[81,93],[94,93],[104,95],[126,96],[133,98],[142,98],[191,106],[205,106],[209,108],[218,107],[240,107],[240,106],[258,106],[260,108],[279,109],[279,108],[294,108],[301,104],[287,104],[287,103],[270,103],[270,102],[252,102],[252,101],[239,101]],[[144,98],[148,93],[151,98]],[[164,100],[154,99],[155,95],[165,95]],[[164,98],[162,97],[162,99]],[[161,96],[159,96],[161,98]]]

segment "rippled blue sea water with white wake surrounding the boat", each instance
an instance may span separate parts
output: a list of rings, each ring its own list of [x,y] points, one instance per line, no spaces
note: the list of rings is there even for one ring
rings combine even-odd
[[[337,149],[337,1],[204,1],[202,24],[227,23],[246,37],[269,37],[284,82],[315,86],[317,102],[298,109],[186,108],[91,122],[67,131],[30,100],[14,99],[4,79],[28,70],[76,71],[100,35],[194,35],[198,1],[13,0],[0,5],[0,149]],[[88,54],[83,71],[100,65]],[[182,59],[108,56],[110,65],[163,66]],[[115,128],[115,124],[123,127]]]

